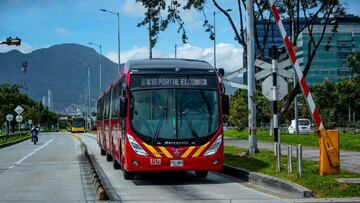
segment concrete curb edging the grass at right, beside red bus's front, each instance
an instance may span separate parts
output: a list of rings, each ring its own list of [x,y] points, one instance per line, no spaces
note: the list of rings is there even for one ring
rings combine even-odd
[[[267,188],[271,187],[272,189],[281,192],[282,194],[284,193],[288,194],[288,196],[290,197],[295,197],[295,198],[314,197],[311,190],[288,180],[283,180],[280,178],[268,176],[261,173],[251,172],[245,169],[235,168],[227,165],[224,165],[223,170],[221,172],[239,178],[241,180],[247,181],[254,185],[259,185]]]

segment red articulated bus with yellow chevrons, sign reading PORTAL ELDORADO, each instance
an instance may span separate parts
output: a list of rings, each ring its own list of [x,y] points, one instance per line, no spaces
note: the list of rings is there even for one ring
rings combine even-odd
[[[206,177],[221,170],[222,113],[229,104],[221,75],[223,69],[200,60],[129,61],[97,101],[101,154],[125,179],[145,171]]]

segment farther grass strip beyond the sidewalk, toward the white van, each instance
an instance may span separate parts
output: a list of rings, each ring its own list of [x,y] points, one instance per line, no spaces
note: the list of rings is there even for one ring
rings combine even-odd
[[[281,143],[297,145],[302,144],[303,146],[318,147],[318,137],[313,134],[289,134],[286,132],[281,132]],[[247,131],[237,131],[237,130],[227,130],[224,133],[225,136],[239,138],[239,139],[248,139]],[[269,131],[259,130],[256,133],[258,141],[264,142],[273,142],[273,137],[269,136]],[[343,133],[340,132],[340,148],[342,150],[358,151],[360,152],[360,135],[353,133]]]

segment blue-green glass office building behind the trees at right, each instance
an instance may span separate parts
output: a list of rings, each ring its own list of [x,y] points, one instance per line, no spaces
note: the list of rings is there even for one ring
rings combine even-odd
[[[315,25],[313,35],[318,41],[322,33],[323,25]],[[311,63],[306,76],[307,83],[322,83],[325,80],[336,82],[339,78],[350,79],[353,75],[347,63],[347,57],[354,52],[360,51],[360,18],[348,16],[338,20],[337,32],[332,32],[333,26],[328,25],[324,38]],[[298,38],[297,55],[306,65],[309,58],[308,42],[310,35],[305,29]]]

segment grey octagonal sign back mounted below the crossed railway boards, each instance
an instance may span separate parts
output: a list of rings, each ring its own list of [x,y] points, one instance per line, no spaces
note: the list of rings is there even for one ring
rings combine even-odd
[[[288,93],[288,84],[287,82],[281,77],[277,76],[277,86],[278,94],[277,94],[277,101],[282,100]],[[269,100],[275,101],[273,95],[273,81],[272,77],[267,77],[261,85],[262,94]]]

